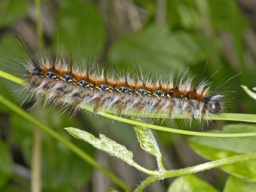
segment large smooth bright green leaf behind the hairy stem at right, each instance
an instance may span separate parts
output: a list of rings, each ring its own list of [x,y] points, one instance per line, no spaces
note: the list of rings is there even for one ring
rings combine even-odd
[[[222,131],[214,133],[256,132],[256,125],[229,124]],[[208,160],[217,160],[244,153],[256,152],[256,139],[252,137],[220,138],[199,137],[189,138],[190,147],[200,156]],[[256,181],[256,160],[222,166],[222,170],[236,177]]]

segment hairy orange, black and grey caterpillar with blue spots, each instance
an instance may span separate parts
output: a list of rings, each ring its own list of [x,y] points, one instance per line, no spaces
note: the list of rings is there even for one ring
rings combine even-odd
[[[112,109],[117,115],[130,111],[139,116],[183,114],[190,117],[190,122],[195,117],[208,122],[210,114],[217,115],[225,109],[224,94],[218,89],[211,92],[205,79],[193,84],[194,76],[186,77],[186,72],[180,78],[170,72],[153,82],[150,76],[133,72],[116,75],[96,62],[90,69],[85,62],[79,67],[77,59],[72,63],[63,56],[53,59],[27,53],[29,59],[19,63],[25,74],[23,90],[28,97],[38,100],[45,97],[45,102],[52,102],[53,106],[72,106],[74,113],[80,106],[90,106],[94,112]]]

